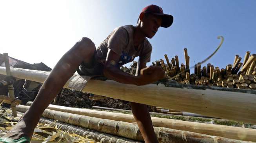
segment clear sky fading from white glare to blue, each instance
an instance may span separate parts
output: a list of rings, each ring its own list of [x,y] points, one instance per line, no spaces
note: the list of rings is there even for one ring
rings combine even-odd
[[[207,63],[225,68],[236,54],[244,58],[246,51],[256,53],[255,0],[0,1],[0,53],[53,68],[82,37],[98,46],[115,27],[136,25],[150,4],[174,16],[171,27],[160,28],[149,39],[151,62],[167,54],[185,63],[187,48],[192,66],[214,52],[220,43],[217,36],[223,36],[224,43]]]

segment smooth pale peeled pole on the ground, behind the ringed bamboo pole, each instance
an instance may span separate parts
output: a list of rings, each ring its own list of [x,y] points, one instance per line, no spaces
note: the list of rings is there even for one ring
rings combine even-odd
[[[31,103],[32,102],[28,102],[28,105],[31,105]],[[18,106],[18,109],[20,109],[20,106]],[[80,114],[80,115],[91,116],[91,117],[97,117],[97,118],[105,118],[109,120],[129,122],[129,123],[136,122],[134,120],[133,115],[131,114],[109,113],[105,111],[94,111],[90,109],[70,108],[70,107],[64,107],[64,106],[58,106],[58,105],[49,105],[47,109],[73,113],[73,114]],[[224,125],[212,125],[212,124],[205,124],[205,123],[194,123],[194,122],[179,121],[179,120],[172,120],[172,119],[165,119],[165,118],[156,118],[156,117],[151,117],[151,120],[153,125],[156,127],[166,127],[171,129],[177,129],[177,130],[187,130],[187,131],[197,132],[201,134],[222,136],[225,138],[240,139],[245,141],[256,141],[256,138],[254,138],[256,134],[255,129],[246,129],[246,128],[239,128],[239,127],[224,126]],[[237,132],[239,132],[241,136],[246,136],[246,137],[244,139],[241,139],[238,136]]]

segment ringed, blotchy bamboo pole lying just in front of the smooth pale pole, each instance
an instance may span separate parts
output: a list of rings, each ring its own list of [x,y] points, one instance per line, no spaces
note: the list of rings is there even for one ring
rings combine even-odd
[[[24,105],[19,105],[17,109],[18,111],[25,112],[27,111],[27,109],[29,109],[29,107]],[[45,109],[42,116],[46,118],[51,118],[53,120],[58,120],[64,123],[85,127],[92,130],[97,130],[107,134],[113,134],[116,136],[122,136],[125,138],[143,141],[143,138],[138,129],[138,126],[133,123],[118,122],[118,121],[94,118],[94,117],[83,116],[78,114],[53,111],[49,109]],[[191,138],[189,142],[191,141],[202,142],[205,140],[206,143],[209,143],[209,142],[215,143],[216,140],[218,141],[219,139],[220,141],[223,141],[223,143],[229,143],[230,141],[233,141],[233,142],[236,141],[238,143],[244,142],[244,141],[228,139],[223,137],[216,137],[216,136],[214,136],[213,138],[212,136],[205,135],[205,134],[198,134],[198,133],[187,132],[182,130],[173,130],[173,129],[162,128],[162,127],[154,127],[154,130],[155,130],[156,136],[158,137],[158,141],[160,141],[161,143],[170,143],[170,141],[173,141],[173,139],[175,139],[174,137],[176,138],[179,137],[178,141],[180,141],[180,139],[183,140],[185,134],[186,134],[185,138],[187,139]],[[178,132],[178,136],[175,135],[177,134],[177,132]],[[185,140],[187,141],[187,139]]]

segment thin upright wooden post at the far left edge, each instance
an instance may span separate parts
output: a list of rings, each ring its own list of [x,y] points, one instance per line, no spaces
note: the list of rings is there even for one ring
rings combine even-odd
[[[5,61],[5,69],[6,69],[6,75],[11,76],[11,69],[10,69],[10,63],[9,63],[9,56],[8,53],[4,53],[4,61]],[[8,92],[9,96],[11,99],[14,101],[15,96],[14,96],[14,90],[13,90],[13,84],[8,85]],[[13,116],[17,116],[17,109],[16,109],[16,104],[15,102],[11,102],[11,110],[13,112]]]

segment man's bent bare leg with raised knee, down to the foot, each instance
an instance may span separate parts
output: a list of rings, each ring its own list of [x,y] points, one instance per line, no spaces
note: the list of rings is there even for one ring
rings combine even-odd
[[[19,139],[27,136],[31,138],[45,108],[75,73],[82,61],[89,63],[93,59],[94,50],[94,43],[89,38],[82,38],[65,53],[45,80],[29,110],[5,137]]]

